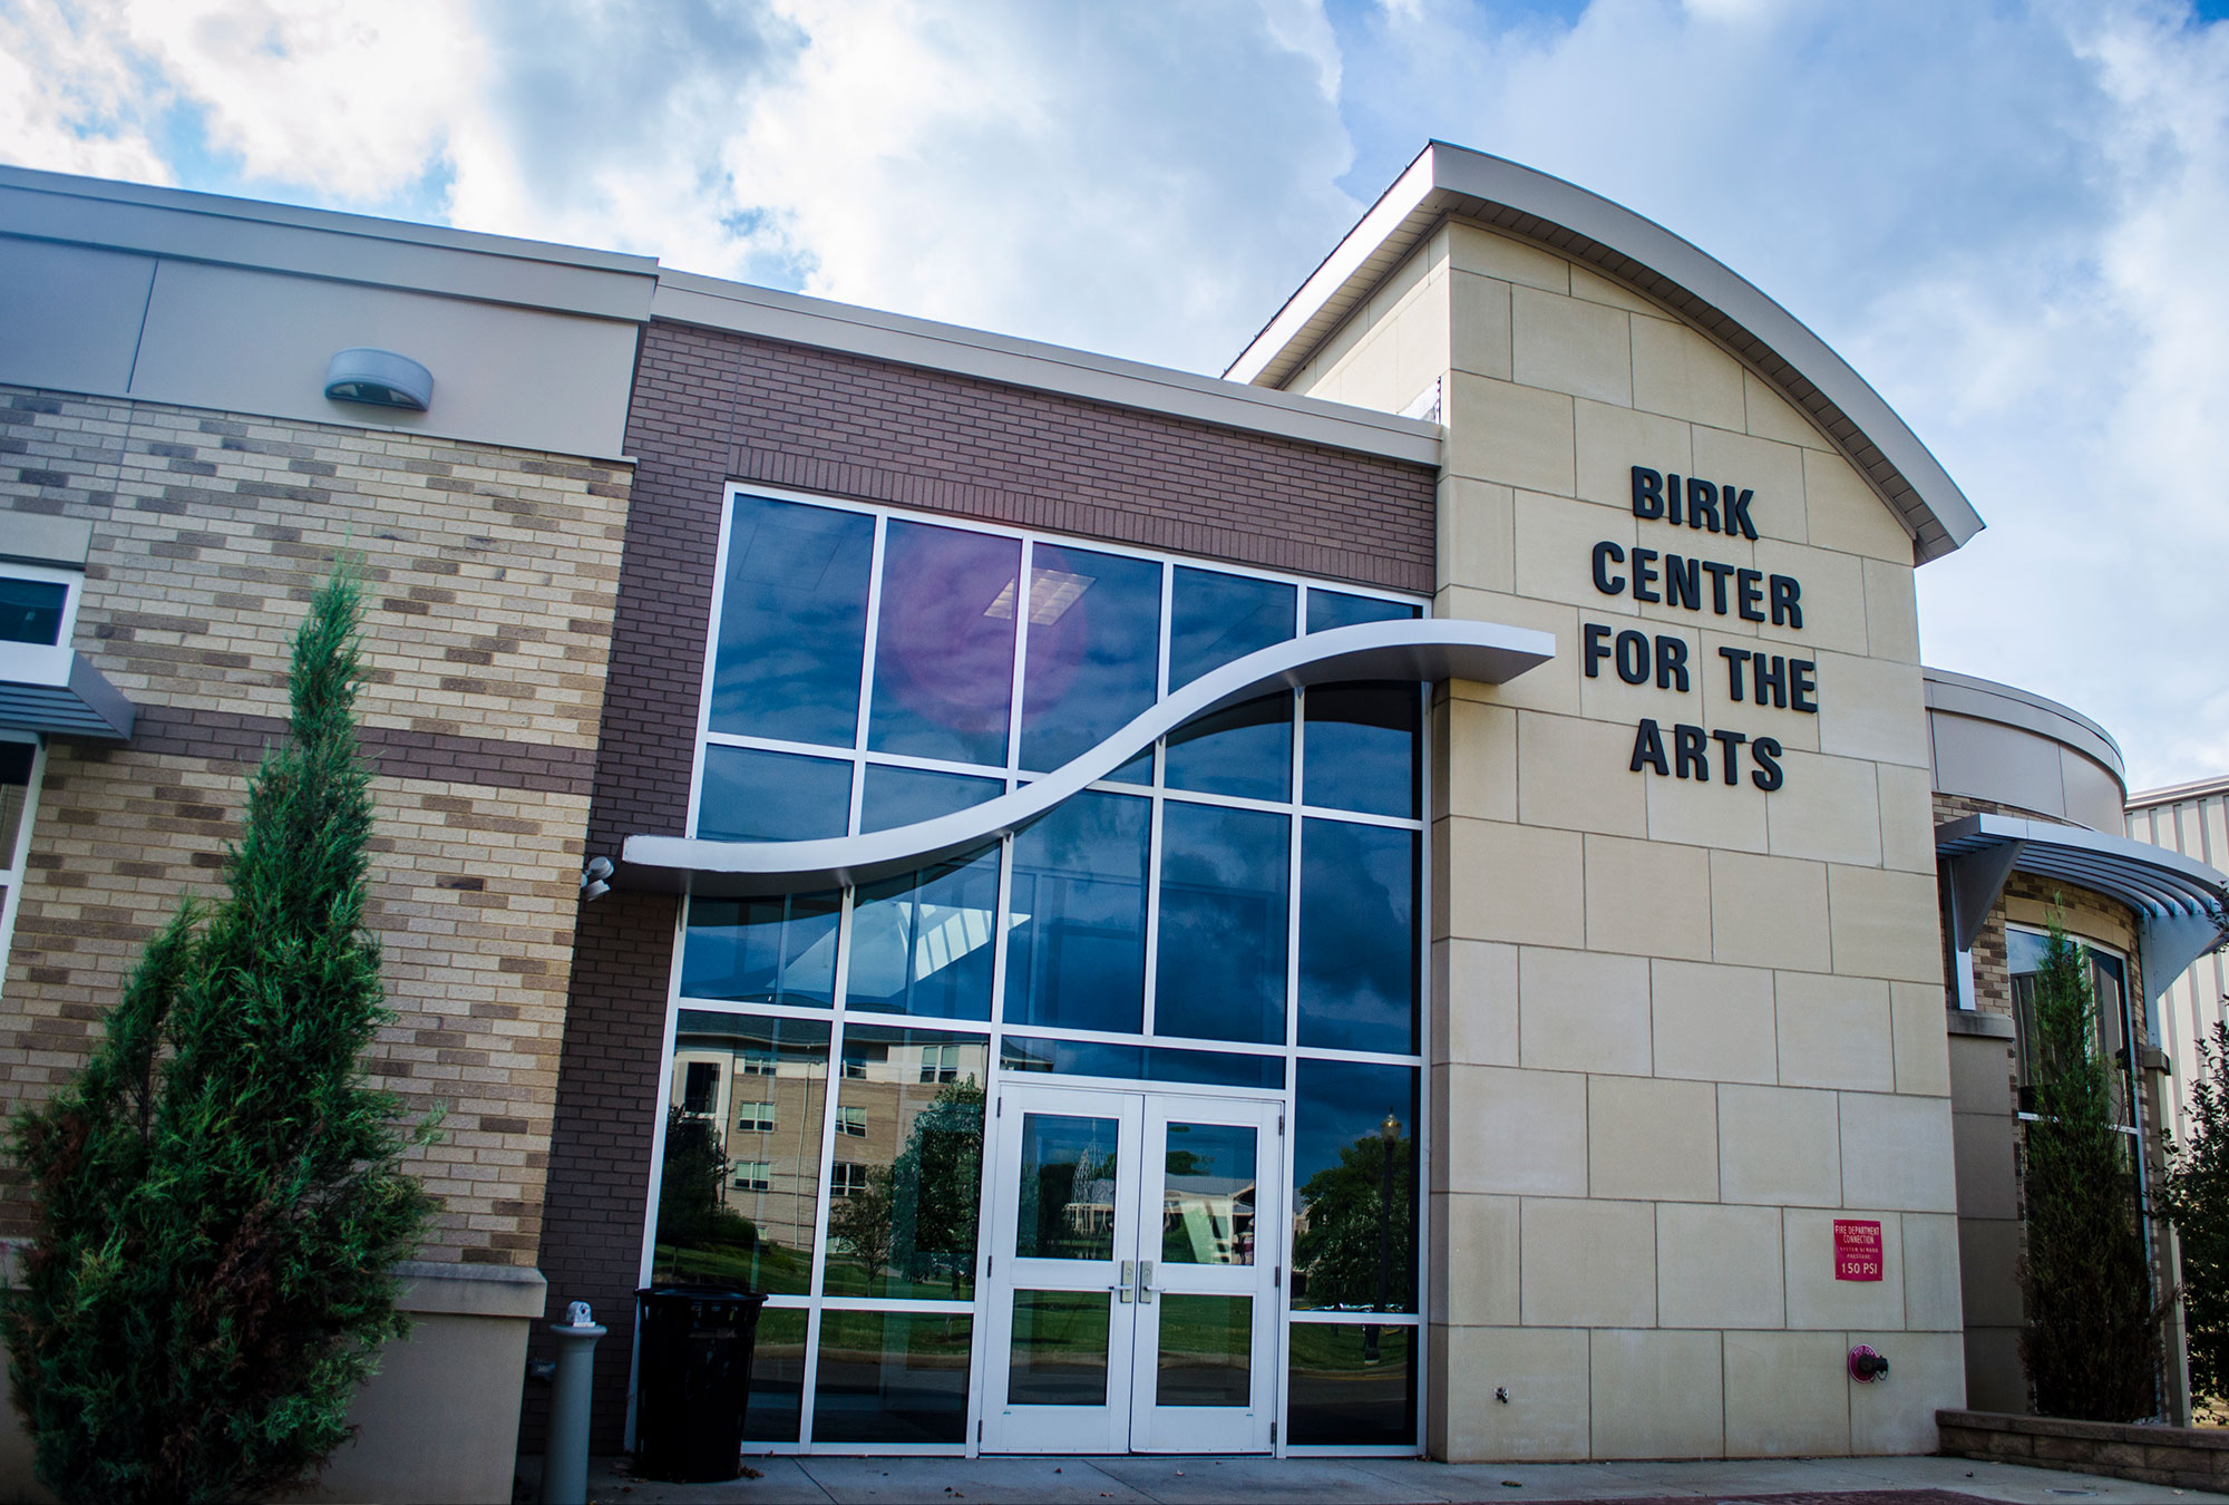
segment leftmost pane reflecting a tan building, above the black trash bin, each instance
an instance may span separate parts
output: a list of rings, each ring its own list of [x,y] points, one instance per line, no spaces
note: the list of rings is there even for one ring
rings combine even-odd
[[[653,1282],[811,1289],[829,1026],[684,1008]]]

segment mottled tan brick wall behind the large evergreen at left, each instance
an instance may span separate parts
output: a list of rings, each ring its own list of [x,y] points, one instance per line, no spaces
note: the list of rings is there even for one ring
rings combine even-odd
[[[283,736],[294,627],[366,569],[377,1075],[448,1113],[426,1258],[533,1264],[629,468],[0,388],[0,506],[87,520],[76,647],[140,709],[53,742],[0,985],[0,1099],[71,1070],[140,943],[214,892]],[[16,1195],[0,1226],[22,1226]]]

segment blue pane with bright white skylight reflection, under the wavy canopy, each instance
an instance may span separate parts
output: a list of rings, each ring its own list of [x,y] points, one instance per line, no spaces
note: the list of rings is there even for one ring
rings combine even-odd
[[[858,890],[847,1008],[990,1019],[999,849]]]

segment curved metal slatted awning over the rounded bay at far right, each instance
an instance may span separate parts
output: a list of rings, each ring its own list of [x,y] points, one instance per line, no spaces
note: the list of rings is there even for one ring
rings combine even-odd
[[[2082,825],[1962,816],[1935,827],[1935,856],[1946,870],[1950,939],[1962,952],[1973,950],[2015,872],[2075,883],[2135,910],[2147,1001],[2229,939],[2229,874],[2167,847]]]

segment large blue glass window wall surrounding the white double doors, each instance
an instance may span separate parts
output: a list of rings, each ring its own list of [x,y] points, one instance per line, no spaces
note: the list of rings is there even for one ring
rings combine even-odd
[[[1418,604],[733,491],[693,834],[965,809],[1235,658]],[[1016,836],[693,899],[644,1275],[769,1291],[749,1436],[961,1449],[1003,1072],[1282,1097],[1295,1447],[1418,1445],[1422,687],[1199,718]]]

